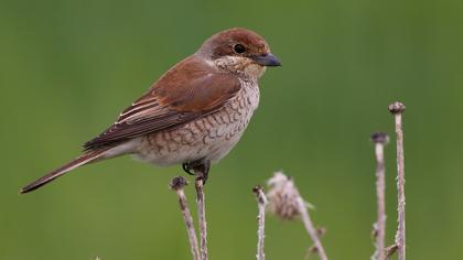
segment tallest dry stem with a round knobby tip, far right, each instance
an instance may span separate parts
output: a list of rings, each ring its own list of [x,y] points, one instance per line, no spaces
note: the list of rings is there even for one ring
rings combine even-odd
[[[403,165],[403,131],[402,113],[406,106],[401,102],[389,105],[389,111],[395,115],[397,134],[397,212],[398,227],[396,232],[396,245],[399,260],[406,259],[406,196],[405,196],[405,165]]]

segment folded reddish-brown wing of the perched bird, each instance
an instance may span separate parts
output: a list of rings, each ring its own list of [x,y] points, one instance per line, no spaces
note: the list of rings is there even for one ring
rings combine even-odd
[[[217,73],[192,56],[164,74],[110,128],[86,142],[84,149],[114,145],[181,127],[220,109],[239,89],[237,77]]]

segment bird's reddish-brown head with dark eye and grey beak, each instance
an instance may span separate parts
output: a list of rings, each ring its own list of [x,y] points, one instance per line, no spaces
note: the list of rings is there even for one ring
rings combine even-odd
[[[270,53],[266,40],[240,28],[213,35],[204,42],[196,55],[212,62],[220,71],[250,79],[258,79],[268,66],[281,66],[277,56]]]

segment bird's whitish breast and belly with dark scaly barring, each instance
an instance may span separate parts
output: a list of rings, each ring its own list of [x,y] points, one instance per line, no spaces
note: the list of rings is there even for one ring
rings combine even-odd
[[[158,165],[172,165],[201,159],[217,162],[243,136],[259,101],[256,91],[243,91],[220,110],[177,129],[148,134],[136,156]]]

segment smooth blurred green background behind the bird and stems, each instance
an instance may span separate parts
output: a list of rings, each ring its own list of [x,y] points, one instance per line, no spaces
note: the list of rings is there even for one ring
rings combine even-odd
[[[463,253],[462,1],[0,0],[0,259],[190,259],[176,167],[120,158],[28,195],[209,35],[245,26],[283,62],[206,186],[211,259],[254,259],[250,189],[282,169],[327,234],[332,259],[368,259],[376,217],[369,136],[403,101],[409,259]],[[392,141],[395,139],[392,138]],[[387,150],[388,241],[396,225]],[[189,198],[193,202],[193,187]],[[192,205],[193,206],[193,205]],[[303,259],[300,223],[268,218],[268,259]]]

